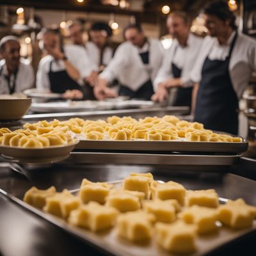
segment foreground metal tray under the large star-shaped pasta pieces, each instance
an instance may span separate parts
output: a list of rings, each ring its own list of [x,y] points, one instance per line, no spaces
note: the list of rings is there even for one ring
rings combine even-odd
[[[120,180],[116,182],[109,182],[115,184],[115,186],[120,186]],[[71,191],[76,193],[78,189]],[[72,234],[73,236],[81,239],[86,244],[99,248],[99,250],[106,252],[108,255],[117,255],[117,256],[174,256],[176,254],[165,252],[163,249],[159,248],[156,244],[156,239],[154,237],[151,239],[148,244],[136,244],[126,241],[120,237],[116,237],[115,228],[111,230],[105,230],[102,232],[93,233],[84,228],[75,227],[68,224],[61,218],[53,216],[52,214],[47,214],[31,205],[26,204],[19,198],[10,195],[3,189],[0,189],[0,193],[6,196],[9,200],[18,204],[29,212],[33,212],[37,216],[40,216],[44,220],[49,221],[50,223],[60,227],[65,232]],[[225,204],[227,202],[226,198],[220,198],[220,203]],[[251,228],[246,228],[243,230],[231,230],[227,227],[221,227],[220,231],[216,234],[211,234],[208,236],[199,236],[196,239],[196,245],[198,250],[196,253],[191,253],[189,256],[204,255],[205,253],[214,252],[214,250],[220,250],[221,247],[227,246],[236,239],[242,238],[246,235],[255,235],[256,234],[256,220],[253,221],[253,226]],[[186,254],[188,256],[188,254]]]

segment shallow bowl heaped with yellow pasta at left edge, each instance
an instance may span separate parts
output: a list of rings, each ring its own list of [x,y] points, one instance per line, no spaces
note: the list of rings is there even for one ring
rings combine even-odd
[[[30,164],[54,163],[67,159],[78,141],[67,132],[47,131],[47,127],[40,128],[45,132],[38,133],[40,129],[0,129],[0,154],[12,161]]]

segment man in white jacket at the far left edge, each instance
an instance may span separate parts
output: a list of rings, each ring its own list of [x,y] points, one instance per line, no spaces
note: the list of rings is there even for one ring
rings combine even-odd
[[[4,36],[0,41],[0,94],[13,94],[32,88],[35,83],[31,65],[20,58],[16,36]]]

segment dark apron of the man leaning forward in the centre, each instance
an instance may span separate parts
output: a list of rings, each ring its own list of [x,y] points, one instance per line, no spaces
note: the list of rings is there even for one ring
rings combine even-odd
[[[140,58],[143,64],[147,65],[149,63],[149,52],[141,52]],[[154,94],[154,89],[151,79],[149,79],[146,83],[142,84],[136,92],[132,91],[127,86],[121,85],[118,94],[121,96],[129,96],[131,99],[150,100],[151,96]]]

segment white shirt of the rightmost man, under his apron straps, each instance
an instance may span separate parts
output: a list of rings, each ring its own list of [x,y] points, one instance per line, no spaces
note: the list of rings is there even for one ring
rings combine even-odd
[[[202,50],[191,72],[192,81],[196,83],[200,82],[202,67],[207,56],[209,60],[225,60],[235,33],[233,32],[230,35],[227,44],[224,45],[220,45],[217,38],[211,36],[205,37]],[[240,99],[252,72],[256,70],[256,40],[238,32],[228,69],[234,91],[236,92],[237,98]]]

